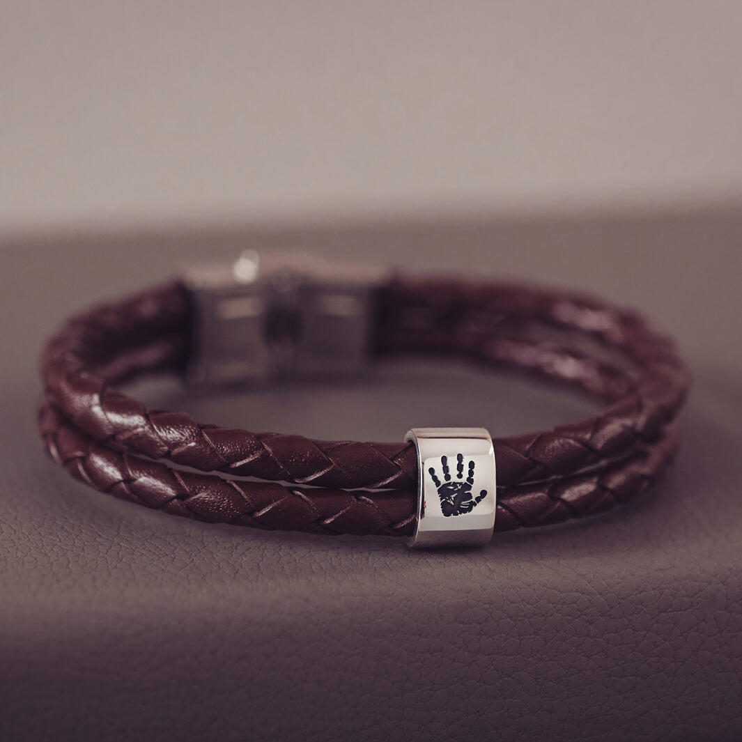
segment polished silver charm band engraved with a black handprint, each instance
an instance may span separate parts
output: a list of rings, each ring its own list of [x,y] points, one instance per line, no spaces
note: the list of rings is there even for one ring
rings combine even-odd
[[[496,511],[495,452],[483,427],[417,427],[418,519],[411,548],[485,546]]]

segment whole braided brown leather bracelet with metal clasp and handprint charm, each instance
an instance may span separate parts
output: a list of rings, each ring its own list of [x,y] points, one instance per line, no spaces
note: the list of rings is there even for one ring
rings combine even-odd
[[[522,436],[413,428],[368,443],[202,424],[117,388],[154,372],[207,387],[332,378],[401,355],[527,372],[605,407]],[[631,499],[672,462],[689,390],[672,340],[594,298],[252,253],[70,318],[41,369],[42,441],[97,490],[206,522],[414,546],[483,545]]]

